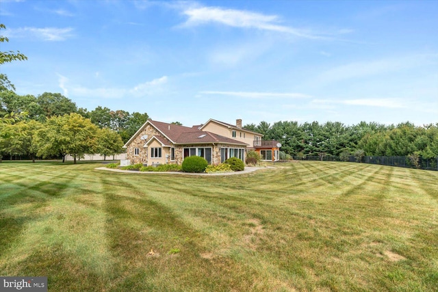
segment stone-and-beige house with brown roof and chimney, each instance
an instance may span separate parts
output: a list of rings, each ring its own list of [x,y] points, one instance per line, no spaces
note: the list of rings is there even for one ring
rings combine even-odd
[[[193,127],[148,120],[123,147],[131,163],[181,164],[185,157],[196,155],[218,164],[230,157],[245,161],[246,151],[261,149],[262,136],[242,128],[242,120],[232,125],[210,119]],[[265,152],[264,158],[269,157]]]

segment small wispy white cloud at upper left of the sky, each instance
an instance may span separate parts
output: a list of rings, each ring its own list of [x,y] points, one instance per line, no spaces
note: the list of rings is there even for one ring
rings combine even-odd
[[[21,27],[18,29],[8,29],[5,34],[11,38],[38,38],[47,41],[62,41],[73,37],[72,27]]]

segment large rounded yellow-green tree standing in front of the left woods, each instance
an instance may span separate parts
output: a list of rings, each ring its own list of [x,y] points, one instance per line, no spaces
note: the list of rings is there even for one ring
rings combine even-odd
[[[99,128],[80,114],[53,116],[44,125],[36,135],[38,156],[47,158],[62,155],[64,162],[69,154],[76,164],[78,157],[92,154],[97,148]]]

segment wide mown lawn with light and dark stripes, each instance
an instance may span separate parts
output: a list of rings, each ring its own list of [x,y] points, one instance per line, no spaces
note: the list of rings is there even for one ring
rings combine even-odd
[[[99,166],[0,163],[0,276],[48,276],[49,291],[438,291],[438,172]]]

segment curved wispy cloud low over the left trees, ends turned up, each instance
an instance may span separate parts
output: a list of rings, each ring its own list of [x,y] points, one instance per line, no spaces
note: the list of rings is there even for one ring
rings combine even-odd
[[[63,75],[58,74],[58,86],[68,96],[82,96],[90,98],[124,98],[136,97],[141,98],[162,92],[164,88],[162,85],[168,81],[167,76],[163,76],[152,81],[140,83],[133,88],[86,88],[81,85],[70,85],[69,79]]]

